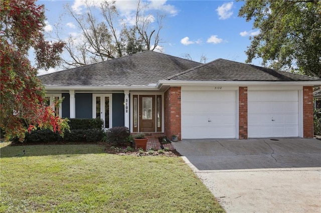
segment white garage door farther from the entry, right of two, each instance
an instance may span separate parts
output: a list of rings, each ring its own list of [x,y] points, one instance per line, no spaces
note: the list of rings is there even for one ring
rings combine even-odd
[[[248,136],[298,136],[298,91],[248,91]]]

